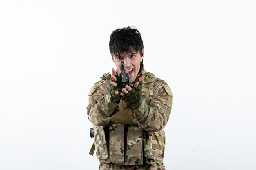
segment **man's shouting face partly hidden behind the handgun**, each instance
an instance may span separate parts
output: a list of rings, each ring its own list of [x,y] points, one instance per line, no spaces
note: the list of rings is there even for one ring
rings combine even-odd
[[[144,50],[142,51],[142,54],[144,54]],[[144,56],[141,56],[140,53],[132,52],[118,56],[114,55],[112,58],[117,67],[118,74],[121,73],[121,61],[124,61],[125,68],[129,71],[130,82],[133,82],[139,73],[140,61],[143,57]]]

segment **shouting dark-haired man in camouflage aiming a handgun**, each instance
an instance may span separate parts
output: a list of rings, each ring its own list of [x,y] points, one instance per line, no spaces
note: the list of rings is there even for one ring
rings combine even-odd
[[[137,29],[128,26],[113,31],[109,48],[117,68],[94,84],[87,107],[99,169],[164,170],[162,129],[171,113],[171,89],[144,70],[144,46]],[[121,62],[131,83],[125,88],[120,87],[118,76]]]

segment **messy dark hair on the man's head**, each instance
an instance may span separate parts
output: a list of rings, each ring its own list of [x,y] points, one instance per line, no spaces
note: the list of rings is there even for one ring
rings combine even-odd
[[[138,29],[130,26],[114,30],[110,35],[109,50],[111,55],[120,55],[136,51],[142,56],[143,41]]]

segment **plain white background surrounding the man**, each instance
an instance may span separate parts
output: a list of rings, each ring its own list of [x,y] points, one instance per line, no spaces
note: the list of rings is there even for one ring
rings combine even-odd
[[[166,170],[255,170],[254,0],[1,0],[0,170],[98,168],[88,93],[136,26],[173,90]]]

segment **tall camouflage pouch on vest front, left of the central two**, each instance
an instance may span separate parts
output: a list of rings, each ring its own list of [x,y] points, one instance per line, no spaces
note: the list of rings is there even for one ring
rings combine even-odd
[[[109,155],[112,163],[124,162],[124,124],[109,126]]]

